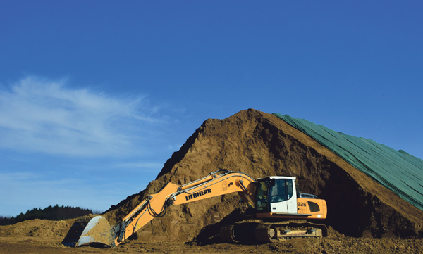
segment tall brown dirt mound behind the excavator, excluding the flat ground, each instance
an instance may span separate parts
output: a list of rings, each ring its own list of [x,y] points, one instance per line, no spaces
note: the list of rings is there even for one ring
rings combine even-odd
[[[325,224],[346,236],[423,236],[423,212],[345,163],[317,141],[275,115],[243,110],[223,120],[209,119],[180,151],[173,153],[157,179],[106,211],[114,223],[167,182],[185,184],[221,169],[252,177],[297,177],[300,189],[324,198]],[[168,208],[138,233],[140,241],[190,241],[238,208],[238,195],[209,198]],[[234,216],[232,214],[232,216]]]

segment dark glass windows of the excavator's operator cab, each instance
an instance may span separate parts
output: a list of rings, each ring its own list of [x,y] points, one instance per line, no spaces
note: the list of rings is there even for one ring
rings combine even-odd
[[[258,180],[256,194],[257,212],[269,212],[271,203],[288,201],[293,197],[293,179],[269,177]]]

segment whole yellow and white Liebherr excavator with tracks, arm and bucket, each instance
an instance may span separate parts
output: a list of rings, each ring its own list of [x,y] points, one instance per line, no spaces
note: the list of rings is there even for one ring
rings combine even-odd
[[[92,243],[118,246],[154,217],[164,216],[171,205],[235,192],[253,212],[248,220],[221,227],[219,236],[223,241],[253,239],[272,243],[281,239],[327,235],[324,224],[310,221],[326,218],[326,201],[297,191],[295,177],[254,179],[243,172],[217,170],[188,184],[167,183],[157,193],[147,196],[114,227],[102,216],[75,220],[62,243],[71,247]]]

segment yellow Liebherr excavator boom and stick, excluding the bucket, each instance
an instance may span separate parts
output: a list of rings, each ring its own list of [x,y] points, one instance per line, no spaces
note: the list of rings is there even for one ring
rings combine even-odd
[[[118,246],[154,217],[166,214],[170,205],[181,205],[205,198],[238,192],[250,205],[254,204],[255,179],[242,172],[218,170],[207,177],[178,186],[168,183],[159,192],[148,196],[116,225],[112,246]]]

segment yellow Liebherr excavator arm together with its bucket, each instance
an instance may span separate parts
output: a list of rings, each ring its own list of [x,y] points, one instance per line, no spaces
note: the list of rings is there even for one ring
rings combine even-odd
[[[162,217],[171,205],[181,205],[205,198],[238,192],[249,205],[255,203],[255,179],[243,172],[217,170],[202,179],[184,185],[168,183],[155,194],[147,196],[114,227],[104,217],[77,220],[63,239],[66,246],[103,243],[118,246],[154,217]]]

